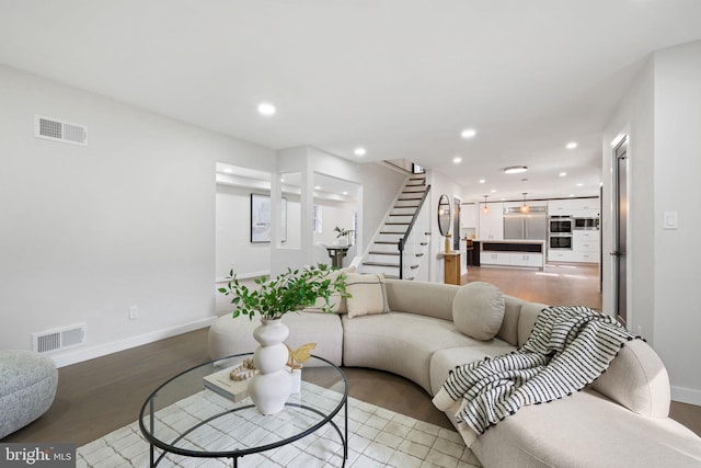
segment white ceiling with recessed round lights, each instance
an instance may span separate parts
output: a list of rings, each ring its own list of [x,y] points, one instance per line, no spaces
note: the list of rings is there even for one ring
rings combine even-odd
[[[632,78],[700,19],[699,0],[0,0],[0,64],[275,149],[404,158],[466,199],[585,196]]]

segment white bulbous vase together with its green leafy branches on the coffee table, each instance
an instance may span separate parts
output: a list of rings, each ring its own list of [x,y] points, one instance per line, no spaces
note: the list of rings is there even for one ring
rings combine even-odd
[[[219,288],[219,293],[232,296],[233,318],[249,316],[253,320],[256,313],[261,316],[261,324],[253,331],[253,338],[260,343],[253,354],[258,373],[249,384],[249,393],[262,414],[281,410],[291,391],[291,376],[285,370],[289,352],[284,344],[289,329],[280,320],[283,316],[311,306],[331,312],[332,295],[348,297],[345,275],[332,272],[325,264],[287,269],[275,279],[268,281],[266,276],[255,279],[258,288],[249,288],[232,270],[227,287]]]

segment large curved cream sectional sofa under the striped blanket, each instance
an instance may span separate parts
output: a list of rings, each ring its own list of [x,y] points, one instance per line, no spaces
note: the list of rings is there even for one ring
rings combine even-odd
[[[349,283],[357,276],[349,275]],[[381,307],[363,289],[374,286],[349,284],[354,297],[340,304],[338,313],[287,313],[288,344],[315,342],[314,354],[336,365],[391,372],[435,396],[456,366],[522,345],[545,307],[506,295],[494,304],[493,295],[482,294],[493,286],[483,283],[378,283]],[[495,307],[504,310],[498,323],[489,312]],[[219,318],[209,332],[211,357],[254,350],[256,326],[257,320]],[[496,335],[485,340],[490,329]],[[521,408],[471,448],[485,467],[700,467],[701,438],[668,418],[669,402],[664,364],[644,341],[633,340],[591,386]],[[458,427],[456,409],[446,414]]]

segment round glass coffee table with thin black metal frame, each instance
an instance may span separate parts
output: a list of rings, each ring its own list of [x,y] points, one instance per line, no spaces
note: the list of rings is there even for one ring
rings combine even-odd
[[[233,391],[234,397],[211,384],[216,373],[228,375],[228,368],[252,355],[238,354],[193,367],[149,396],[141,407],[139,426],[150,444],[151,467],[165,457],[172,459],[169,454],[229,458],[235,468],[239,458],[249,455],[286,465],[290,457],[307,456],[306,452],[321,459],[341,456],[345,466],[348,381],[343,372],[329,361],[312,356],[301,372],[299,393],[290,395],[280,412],[263,415],[245,395]],[[334,421],[342,408],[343,431]],[[315,441],[300,441],[311,434]],[[284,446],[291,448],[280,448]]]

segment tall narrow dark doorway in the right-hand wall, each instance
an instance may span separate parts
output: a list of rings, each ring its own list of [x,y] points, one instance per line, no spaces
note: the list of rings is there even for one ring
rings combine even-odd
[[[613,306],[628,327],[628,137],[613,149]]]

